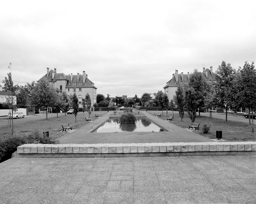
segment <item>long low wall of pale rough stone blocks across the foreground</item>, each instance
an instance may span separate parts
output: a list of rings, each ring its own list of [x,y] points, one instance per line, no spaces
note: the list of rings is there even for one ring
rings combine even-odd
[[[111,144],[25,144],[17,147],[17,154],[122,154],[241,151],[254,151],[256,154],[256,141]]]

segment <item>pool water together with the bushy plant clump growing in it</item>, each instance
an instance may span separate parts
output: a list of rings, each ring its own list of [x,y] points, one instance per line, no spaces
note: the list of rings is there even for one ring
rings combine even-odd
[[[110,118],[94,133],[104,132],[162,132],[163,129],[148,118],[136,118],[133,113],[123,113],[119,118]]]

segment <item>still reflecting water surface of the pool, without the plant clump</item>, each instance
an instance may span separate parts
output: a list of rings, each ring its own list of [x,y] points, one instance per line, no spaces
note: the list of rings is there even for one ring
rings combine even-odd
[[[165,131],[147,118],[137,118],[135,123],[119,123],[118,118],[110,118],[94,133],[113,132],[163,132]]]

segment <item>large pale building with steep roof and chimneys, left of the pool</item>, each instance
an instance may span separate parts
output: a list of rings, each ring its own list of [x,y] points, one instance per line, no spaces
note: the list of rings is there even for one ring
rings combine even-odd
[[[92,105],[96,103],[97,88],[94,83],[88,79],[88,75],[77,73],[77,75],[57,73],[56,68],[54,70],[49,70],[47,68],[47,73],[41,78],[46,78],[47,81],[53,86],[61,91],[65,91],[67,95],[73,95],[76,92],[78,97],[79,107],[82,107],[82,98],[88,93],[90,95]],[[40,81],[39,79],[38,81]]]

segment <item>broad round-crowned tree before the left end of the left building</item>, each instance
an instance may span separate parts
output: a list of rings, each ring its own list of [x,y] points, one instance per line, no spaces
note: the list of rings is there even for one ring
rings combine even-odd
[[[36,108],[46,108],[46,120],[48,107],[54,106],[55,101],[57,101],[57,92],[49,85],[46,78],[35,84],[31,91],[31,102]]]

